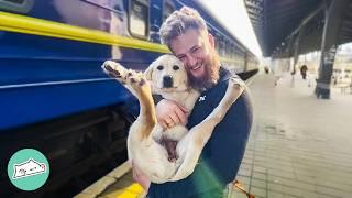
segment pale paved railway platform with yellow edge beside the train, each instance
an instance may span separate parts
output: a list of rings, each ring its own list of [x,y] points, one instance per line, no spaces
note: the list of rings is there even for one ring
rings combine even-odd
[[[300,76],[250,80],[254,123],[238,179],[258,198],[352,196],[352,92],[317,99]],[[310,84],[312,84],[310,81]],[[130,167],[77,197],[143,197]],[[121,172],[121,169],[123,169]],[[121,174],[123,173],[123,174]],[[232,191],[229,197],[245,197]]]

